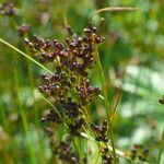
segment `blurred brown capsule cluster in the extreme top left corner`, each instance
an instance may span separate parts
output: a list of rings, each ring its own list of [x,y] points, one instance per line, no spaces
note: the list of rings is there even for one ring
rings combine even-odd
[[[11,2],[0,3],[0,14],[8,15],[8,16],[15,15],[16,12],[15,12],[13,3]]]

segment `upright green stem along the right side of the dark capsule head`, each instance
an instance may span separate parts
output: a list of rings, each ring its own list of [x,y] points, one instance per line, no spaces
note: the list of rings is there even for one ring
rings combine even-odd
[[[103,71],[103,67],[102,67],[102,63],[101,63],[101,59],[99,59],[99,55],[98,55],[98,50],[97,50],[97,47],[95,48],[95,57],[96,57],[96,67],[98,69],[98,74],[99,74],[99,78],[101,78],[101,83],[102,83],[102,91],[103,91],[103,95],[104,95],[104,106],[105,106],[105,112],[106,112],[106,116],[107,116],[107,121],[108,121],[108,132],[109,132],[109,137],[110,137],[110,140],[112,140],[112,147],[113,147],[113,155],[114,155],[114,161],[115,161],[115,164],[117,164],[117,157],[116,157],[116,150],[115,150],[115,141],[114,141],[114,132],[113,132],[113,122],[112,122],[112,119],[110,119],[110,105],[109,105],[109,102],[108,102],[108,94],[107,94],[107,85],[106,85],[106,80],[105,80],[105,75],[104,75],[104,71]]]

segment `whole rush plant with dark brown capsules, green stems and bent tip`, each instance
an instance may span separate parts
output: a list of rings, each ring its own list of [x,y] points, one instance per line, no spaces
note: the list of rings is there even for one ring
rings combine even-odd
[[[142,144],[134,144],[129,151],[122,151],[116,145],[113,130],[116,108],[113,109],[108,101],[108,89],[98,52],[98,45],[105,38],[98,35],[92,22],[92,16],[99,12],[129,10],[136,9],[117,7],[97,10],[91,14],[81,35],[72,32],[67,24],[69,37],[63,42],[56,38],[44,39],[37,35],[25,37],[25,48],[39,56],[39,62],[0,38],[2,44],[45,71],[40,75],[43,84],[38,86],[38,91],[50,107],[46,109],[40,122],[45,124],[51,152],[57,161],[73,164],[118,164],[119,157],[124,157],[127,163],[147,161],[149,150]],[[0,13],[8,16],[16,14],[13,4],[7,2],[0,5]],[[22,24],[16,31],[22,37],[28,33],[30,26]],[[92,84],[94,68],[99,74],[99,87]],[[95,98],[99,98],[105,108],[106,115],[101,125],[95,124],[91,113]],[[162,98],[160,103],[163,103]]]

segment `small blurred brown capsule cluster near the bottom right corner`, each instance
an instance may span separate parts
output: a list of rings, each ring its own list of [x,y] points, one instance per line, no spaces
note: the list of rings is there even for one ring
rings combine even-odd
[[[140,160],[147,161],[149,155],[149,150],[144,149],[142,144],[133,144],[132,149],[130,150],[130,157],[132,160]]]

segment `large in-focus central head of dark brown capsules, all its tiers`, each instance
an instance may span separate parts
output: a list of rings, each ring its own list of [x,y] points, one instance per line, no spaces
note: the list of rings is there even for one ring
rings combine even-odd
[[[40,54],[40,62],[54,63],[52,74],[43,74],[44,85],[40,93],[54,98],[54,106],[67,122],[70,132],[79,136],[85,126],[84,108],[99,94],[99,89],[91,85],[87,77],[95,61],[95,48],[103,42],[96,35],[96,27],[89,24],[84,35],[78,36],[69,28],[70,38],[62,44],[57,39],[49,40],[34,35],[25,38],[26,46],[33,52]],[[60,118],[52,110],[43,121],[60,122]]]

